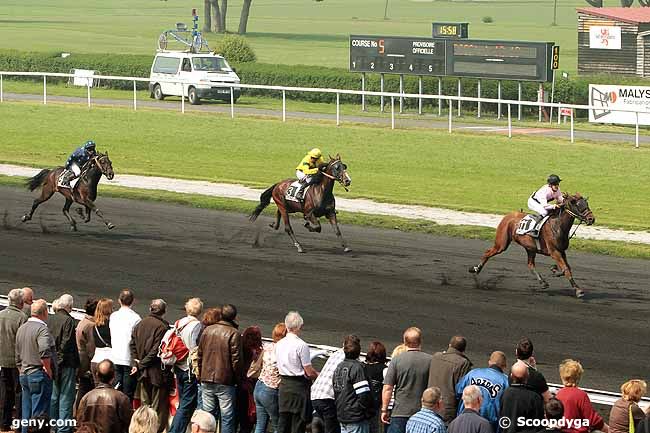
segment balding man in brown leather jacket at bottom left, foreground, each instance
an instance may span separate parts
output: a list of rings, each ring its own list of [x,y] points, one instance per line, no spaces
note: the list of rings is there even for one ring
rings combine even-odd
[[[123,433],[131,423],[131,402],[126,394],[113,388],[115,365],[106,359],[97,365],[97,388],[87,393],[79,403],[77,423],[95,423],[102,433]]]

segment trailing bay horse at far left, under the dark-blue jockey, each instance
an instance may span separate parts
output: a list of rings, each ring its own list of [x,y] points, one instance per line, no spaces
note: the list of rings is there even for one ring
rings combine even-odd
[[[27,180],[27,188],[30,191],[41,188],[41,196],[34,199],[31,211],[23,215],[21,221],[31,220],[36,208],[41,203],[48,201],[55,192],[59,192],[65,197],[63,215],[70,222],[70,228],[73,231],[77,231],[77,222],[70,215],[70,206],[72,206],[73,202],[79,203],[85,208],[85,215],[83,210],[79,209],[79,215],[84,218],[84,222],[90,221],[90,212],[94,211],[109,230],[113,229],[115,227],[113,223],[104,218],[104,215],[94,203],[97,198],[97,184],[102,175],[106,176],[108,180],[113,179],[113,176],[115,176],[113,163],[108,158],[108,152],[106,154],[98,153],[97,156],[84,165],[79,180],[72,189],[59,187],[58,180],[63,170],[63,167],[43,169],[36,176]]]

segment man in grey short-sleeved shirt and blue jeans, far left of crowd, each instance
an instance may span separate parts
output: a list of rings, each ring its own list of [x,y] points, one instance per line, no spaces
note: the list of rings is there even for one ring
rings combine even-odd
[[[16,367],[22,387],[22,417],[48,415],[52,397],[52,378],[56,374],[56,348],[47,320],[47,302],[32,303],[32,317],[16,332]],[[27,427],[22,428],[27,432]]]

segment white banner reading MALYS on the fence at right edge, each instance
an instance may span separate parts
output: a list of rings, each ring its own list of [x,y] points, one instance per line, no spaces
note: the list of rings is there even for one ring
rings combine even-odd
[[[650,87],[589,85],[589,121],[635,125],[636,114],[620,110],[639,111],[639,124],[650,125]]]

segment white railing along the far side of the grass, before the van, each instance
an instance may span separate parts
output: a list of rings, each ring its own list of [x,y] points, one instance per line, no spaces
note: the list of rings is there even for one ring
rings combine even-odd
[[[12,71],[0,71],[0,102],[4,101],[4,89],[3,89],[3,77],[5,76],[21,76],[21,77],[43,77],[43,104],[47,104],[47,77],[58,77],[58,78],[70,78],[74,77],[74,74],[64,74],[64,73],[49,73],[49,72],[12,72]],[[77,78],[79,78],[77,76]],[[112,76],[112,75],[93,75],[92,77],[88,77],[88,85],[87,85],[87,103],[88,107],[91,107],[91,87],[92,87],[92,80],[93,79],[101,79],[101,80],[114,80],[114,81],[132,81],[133,82],[133,109],[137,110],[137,91],[136,91],[136,84],[138,82],[146,82],[149,83],[150,80],[149,78],[140,78],[140,77],[120,77],[120,76]],[[165,82],[168,84],[176,84],[179,86],[183,86],[183,91],[181,92],[183,96],[181,96],[181,112],[185,112],[185,98],[187,95],[187,88],[188,84],[187,82],[181,81],[181,80],[169,80],[169,81],[163,81],[163,80],[157,80],[157,82]],[[511,107],[513,105],[517,107],[537,107],[539,109],[539,118],[541,121],[541,112],[542,108],[551,108],[551,113],[553,112],[553,109],[556,109],[556,112],[558,113],[558,124],[560,123],[560,112],[562,108],[570,108],[571,109],[571,116],[570,117],[570,129],[569,129],[569,137],[571,139],[571,143],[575,141],[575,130],[574,130],[574,116],[573,112],[574,110],[599,110],[602,109],[602,107],[597,107],[597,106],[591,106],[591,105],[578,105],[578,104],[563,104],[561,102],[542,102],[542,101],[522,101],[522,100],[511,100],[511,99],[492,99],[492,98],[475,98],[471,96],[453,96],[453,95],[429,95],[429,94],[423,94],[423,93],[399,93],[399,92],[375,92],[375,91],[368,91],[368,90],[347,90],[347,89],[321,89],[321,88],[313,88],[313,87],[290,87],[290,86],[266,86],[266,85],[258,85],[258,84],[235,84],[235,83],[211,83],[210,84],[212,87],[223,87],[223,88],[229,88],[230,89],[230,117],[234,118],[235,117],[235,101],[234,101],[234,96],[233,96],[233,91],[234,89],[261,89],[261,90],[271,90],[271,91],[278,91],[282,93],[282,121],[286,122],[287,116],[286,116],[286,93],[287,92],[307,92],[307,93],[331,93],[336,95],[336,125],[339,126],[341,124],[341,110],[340,110],[340,96],[341,95],[357,95],[361,96],[362,99],[365,101],[365,98],[368,96],[378,96],[382,98],[382,101],[384,98],[390,98],[390,106],[391,106],[391,129],[395,129],[395,99],[399,99],[400,101],[400,106],[401,106],[401,101],[405,98],[410,98],[410,99],[418,99],[420,101],[420,106],[421,106],[421,101],[422,100],[432,100],[432,101],[438,101],[439,105],[443,102],[446,101],[448,105],[448,132],[452,132],[452,125],[453,125],[453,103],[457,102],[460,104],[461,102],[472,102],[472,103],[477,103],[477,104],[482,104],[482,103],[491,103],[491,104],[497,104],[499,107],[499,118],[501,117],[501,106],[506,105],[507,106],[507,112],[508,112],[508,137],[512,138],[512,110]],[[459,105],[460,106],[460,105]],[[480,105],[479,105],[480,106]],[[383,107],[383,104],[382,104]],[[635,124],[635,147],[639,147],[639,113],[641,111],[637,110],[624,110],[624,109],[609,109],[610,111],[617,111],[617,112],[624,112],[624,113],[636,113],[636,124]]]

